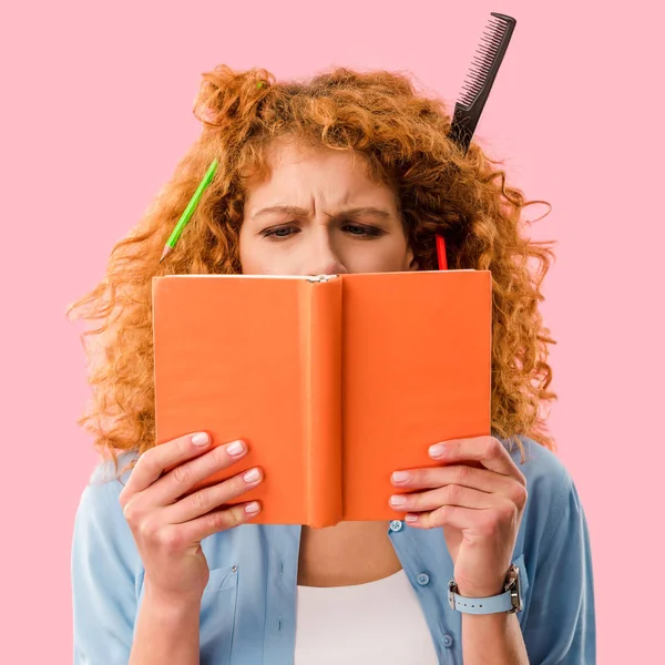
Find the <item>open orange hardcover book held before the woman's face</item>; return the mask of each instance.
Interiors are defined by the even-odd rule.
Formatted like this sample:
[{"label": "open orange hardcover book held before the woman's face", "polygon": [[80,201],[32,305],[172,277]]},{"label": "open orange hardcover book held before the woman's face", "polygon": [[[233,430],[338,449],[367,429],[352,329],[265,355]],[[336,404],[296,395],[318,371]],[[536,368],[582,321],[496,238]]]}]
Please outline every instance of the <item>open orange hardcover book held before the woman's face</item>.
[{"label": "open orange hardcover book held before the woman's face", "polygon": [[490,433],[491,291],[488,270],[155,277],[157,443],[247,441],[195,489],[259,467],[255,523],[398,519],[393,471]]}]

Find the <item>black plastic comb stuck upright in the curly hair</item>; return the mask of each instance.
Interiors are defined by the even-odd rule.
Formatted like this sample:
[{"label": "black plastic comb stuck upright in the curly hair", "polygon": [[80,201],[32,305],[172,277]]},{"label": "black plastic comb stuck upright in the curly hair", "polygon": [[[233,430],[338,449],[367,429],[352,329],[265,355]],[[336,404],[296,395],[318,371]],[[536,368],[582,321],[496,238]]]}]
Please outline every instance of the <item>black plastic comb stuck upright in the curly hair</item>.
[{"label": "black plastic comb stuck upright in the curly hair", "polygon": [[454,105],[450,126],[450,137],[464,155],[516,24],[515,19],[505,14],[492,12],[491,17],[464,79],[460,101]]}]

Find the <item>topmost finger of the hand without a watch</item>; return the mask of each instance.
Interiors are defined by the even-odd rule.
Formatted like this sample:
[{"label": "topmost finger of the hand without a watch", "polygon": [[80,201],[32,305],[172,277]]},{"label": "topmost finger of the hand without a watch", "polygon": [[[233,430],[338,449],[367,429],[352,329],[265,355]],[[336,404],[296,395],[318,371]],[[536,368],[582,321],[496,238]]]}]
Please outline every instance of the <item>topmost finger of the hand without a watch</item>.
[{"label": "topmost finger of the hand without a watch", "polygon": [[120,494],[121,503],[123,499],[149,488],[168,467],[204,453],[209,449],[211,442],[207,432],[195,432],[146,450],[134,464],[132,474]]}]

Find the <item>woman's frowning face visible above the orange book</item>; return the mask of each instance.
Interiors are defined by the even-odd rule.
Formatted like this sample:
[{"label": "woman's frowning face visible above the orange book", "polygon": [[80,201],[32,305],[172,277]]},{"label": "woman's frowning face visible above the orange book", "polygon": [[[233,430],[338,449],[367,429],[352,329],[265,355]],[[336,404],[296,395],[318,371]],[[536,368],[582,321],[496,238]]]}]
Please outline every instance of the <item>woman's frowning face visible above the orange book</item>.
[{"label": "woman's frowning face visible above the orange book", "polygon": [[393,192],[360,155],[282,141],[270,175],[249,181],[241,228],[247,275],[415,270]]}]

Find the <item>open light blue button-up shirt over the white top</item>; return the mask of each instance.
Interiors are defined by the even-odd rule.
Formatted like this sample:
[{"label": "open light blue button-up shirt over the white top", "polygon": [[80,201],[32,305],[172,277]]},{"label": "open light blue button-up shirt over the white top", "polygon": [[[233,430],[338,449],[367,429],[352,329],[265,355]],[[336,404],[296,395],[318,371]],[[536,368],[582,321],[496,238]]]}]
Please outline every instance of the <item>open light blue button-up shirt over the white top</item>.
[{"label": "open light blue button-up shirt over the white top", "polygon": [[[522,575],[524,608],[518,618],[529,662],[592,665],[593,574],[580,498],[554,453],[522,441],[528,459],[520,469],[529,498],[513,561]],[[519,463],[516,447],[511,456]],[[143,596],[144,569],[113,471],[112,462],[98,467],[75,519],[76,665],[127,663]],[[416,590],[439,662],[461,664],[461,614],[448,603],[453,566],[441,530],[411,529],[396,520],[388,534]],[[293,663],[299,540],[300,526],[244,524],[203,541],[211,576],[201,604],[202,665]]]}]

